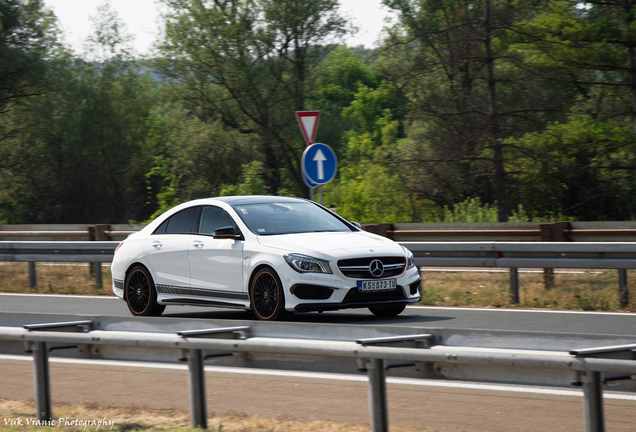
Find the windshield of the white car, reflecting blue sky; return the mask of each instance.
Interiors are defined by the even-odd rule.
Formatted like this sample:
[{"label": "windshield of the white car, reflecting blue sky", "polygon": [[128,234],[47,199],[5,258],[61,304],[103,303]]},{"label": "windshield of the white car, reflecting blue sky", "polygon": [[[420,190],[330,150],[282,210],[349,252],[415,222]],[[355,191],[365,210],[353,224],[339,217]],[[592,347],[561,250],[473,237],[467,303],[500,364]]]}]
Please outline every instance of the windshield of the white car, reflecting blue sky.
[{"label": "windshield of the white car, reflecting blue sky", "polygon": [[240,204],[234,209],[258,235],[351,232],[340,219],[310,202]]}]

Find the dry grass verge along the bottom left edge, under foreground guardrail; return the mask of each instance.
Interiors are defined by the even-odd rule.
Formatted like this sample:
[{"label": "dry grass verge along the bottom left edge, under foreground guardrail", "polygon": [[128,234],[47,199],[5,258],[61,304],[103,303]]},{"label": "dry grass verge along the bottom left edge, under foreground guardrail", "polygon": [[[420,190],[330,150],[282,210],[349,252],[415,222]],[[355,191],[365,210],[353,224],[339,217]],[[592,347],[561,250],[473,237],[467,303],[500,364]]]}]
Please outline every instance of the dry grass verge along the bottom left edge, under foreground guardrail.
[{"label": "dry grass verge along the bottom left edge, under foreground guardrail", "polygon": [[[34,420],[35,406],[30,401],[13,401],[0,399],[0,429],[7,432],[75,432],[75,431],[108,431],[110,425],[101,426],[67,426],[59,425],[59,418],[80,421],[106,420],[114,422],[114,431],[188,431],[192,430],[190,415],[176,410],[147,410],[120,408],[113,406],[53,405],[52,426],[26,426],[26,419]],[[7,426],[5,420],[22,419],[24,426]],[[368,432],[368,425],[334,423],[327,421],[299,422],[285,418],[261,418],[241,414],[215,416],[208,413],[208,429],[218,432]],[[424,432],[423,429],[391,428],[393,432]]]}]

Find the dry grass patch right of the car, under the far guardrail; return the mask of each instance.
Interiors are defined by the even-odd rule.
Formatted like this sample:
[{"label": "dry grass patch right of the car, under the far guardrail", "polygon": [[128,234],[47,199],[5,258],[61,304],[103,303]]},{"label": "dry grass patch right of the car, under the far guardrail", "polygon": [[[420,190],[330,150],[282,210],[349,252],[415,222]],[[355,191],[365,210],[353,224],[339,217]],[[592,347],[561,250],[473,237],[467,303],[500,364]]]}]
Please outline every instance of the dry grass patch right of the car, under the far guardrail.
[{"label": "dry grass patch right of the car, under the far guardrail", "polygon": [[519,304],[510,304],[510,274],[486,272],[422,272],[422,303],[437,306],[521,307],[599,311],[622,308],[618,271],[556,270],[555,286],[546,290],[543,272],[519,272]]}]

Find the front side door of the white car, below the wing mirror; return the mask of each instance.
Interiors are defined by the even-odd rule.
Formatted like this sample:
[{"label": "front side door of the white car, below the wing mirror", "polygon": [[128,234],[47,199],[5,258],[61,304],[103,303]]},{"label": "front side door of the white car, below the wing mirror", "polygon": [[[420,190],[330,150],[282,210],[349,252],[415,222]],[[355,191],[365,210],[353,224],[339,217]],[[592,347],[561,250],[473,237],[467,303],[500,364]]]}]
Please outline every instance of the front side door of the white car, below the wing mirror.
[{"label": "front side door of the white car, below the wing mirror", "polygon": [[238,233],[236,223],[225,210],[203,206],[188,246],[193,296],[229,302],[248,298],[243,290],[243,241],[213,237],[214,230],[227,226]]}]

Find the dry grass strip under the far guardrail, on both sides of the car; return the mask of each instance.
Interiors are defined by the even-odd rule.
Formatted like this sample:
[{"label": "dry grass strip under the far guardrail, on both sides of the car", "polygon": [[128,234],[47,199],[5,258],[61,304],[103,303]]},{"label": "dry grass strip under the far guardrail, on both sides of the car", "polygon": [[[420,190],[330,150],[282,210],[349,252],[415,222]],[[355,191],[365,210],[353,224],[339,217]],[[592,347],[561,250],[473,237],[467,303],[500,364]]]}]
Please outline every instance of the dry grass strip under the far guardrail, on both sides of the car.
[{"label": "dry grass strip under the far guardrail, on both sides of the car", "polygon": [[[103,289],[95,287],[88,265],[37,264],[36,290],[29,288],[26,263],[0,265],[0,292],[112,295],[110,268],[103,266]],[[543,273],[520,270],[520,303],[510,304],[510,276],[503,273],[424,271],[422,304],[437,306],[522,307],[574,310],[624,310],[618,297],[618,272],[579,271],[559,273],[555,287],[546,290]],[[633,296],[632,296],[633,297]]]}]

